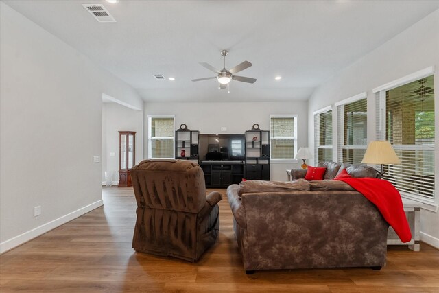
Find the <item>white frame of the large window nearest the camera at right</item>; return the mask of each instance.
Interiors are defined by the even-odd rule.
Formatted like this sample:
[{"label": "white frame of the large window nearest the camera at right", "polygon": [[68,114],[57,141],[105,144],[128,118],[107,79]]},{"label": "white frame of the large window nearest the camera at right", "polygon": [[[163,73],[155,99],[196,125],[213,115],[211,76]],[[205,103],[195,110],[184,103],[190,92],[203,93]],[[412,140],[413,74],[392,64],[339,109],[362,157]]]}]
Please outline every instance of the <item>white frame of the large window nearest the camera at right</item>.
[{"label": "white frame of the large window nearest the camera at right", "polygon": [[[383,84],[381,86],[378,86],[374,89],[372,89],[372,92],[375,94],[375,109],[376,109],[376,127],[375,127],[375,134],[377,140],[385,140],[386,139],[386,115],[387,115],[387,109],[386,109],[386,91],[390,91],[392,89],[395,89],[399,86],[404,86],[405,84],[409,84],[410,82],[414,82],[416,80],[420,80],[422,78],[427,78],[431,75],[434,75],[434,67],[427,67],[425,69],[421,69],[420,71],[416,71],[410,75],[406,75],[403,78],[399,78],[397,80],[394,80],[392,82],[388,82],[387,84]],[[435,97],[437,97],[437,91],[435,91]],[[436,102],[436,101],[435,101]],[[435,110],[437,106],[435,105]],[[435,111],[435,120],[437,121],[438,116]],[[394,150],[432,150],[434,156],[435,154],[435,147],[437,145],[437,134],[438,130],[435,129],[435,137],[434,137],[434,143],[433,144],[425,144],[425,145],[394,145],[392,144],[392,147]],[[437,169],[437,163],[436,158],[434,158],[434,169]],[[378,166],[376,166],[378,167]],[[381,166],[379,166],[381,167]],[[409,198],[411,200],[416,200],[418,202],[424,202],[426,204],[432,204],[437,208],[437,205],[434,204],[434,202],[438,202],[438,176],[435,172],[435,178],[434,178],[434,191],[433,195],[430,196],[422,196],[420,194],[412,194],[410,192],[399,190],[401,196],[403,198]]]}]

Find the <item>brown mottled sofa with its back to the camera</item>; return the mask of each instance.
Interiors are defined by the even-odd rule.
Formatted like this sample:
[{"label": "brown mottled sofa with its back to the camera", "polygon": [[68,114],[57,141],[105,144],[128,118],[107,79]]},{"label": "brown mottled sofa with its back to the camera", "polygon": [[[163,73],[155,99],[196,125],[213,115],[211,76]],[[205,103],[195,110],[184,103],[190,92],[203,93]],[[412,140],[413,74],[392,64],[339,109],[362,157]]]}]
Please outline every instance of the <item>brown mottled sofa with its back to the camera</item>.
[{"label": "brown mottled sofa with its back to the camera", "polygon": [[227,196],[248,274],[385,265],[388,223],[344,182],[251,180],[230,185]]}]

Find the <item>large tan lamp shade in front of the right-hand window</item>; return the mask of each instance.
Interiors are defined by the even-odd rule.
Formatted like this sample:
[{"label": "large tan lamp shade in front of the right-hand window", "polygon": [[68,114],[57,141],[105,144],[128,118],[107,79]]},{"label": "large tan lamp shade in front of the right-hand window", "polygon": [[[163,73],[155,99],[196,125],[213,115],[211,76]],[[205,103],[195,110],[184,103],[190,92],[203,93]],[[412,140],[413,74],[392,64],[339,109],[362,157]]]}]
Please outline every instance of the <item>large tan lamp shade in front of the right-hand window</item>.
[{"label": "large tan lamp shade in front of the right-hand window", "polygon": [[370,141],[363,161],[366,164],[400,164],[392,145],[388,141]]}]

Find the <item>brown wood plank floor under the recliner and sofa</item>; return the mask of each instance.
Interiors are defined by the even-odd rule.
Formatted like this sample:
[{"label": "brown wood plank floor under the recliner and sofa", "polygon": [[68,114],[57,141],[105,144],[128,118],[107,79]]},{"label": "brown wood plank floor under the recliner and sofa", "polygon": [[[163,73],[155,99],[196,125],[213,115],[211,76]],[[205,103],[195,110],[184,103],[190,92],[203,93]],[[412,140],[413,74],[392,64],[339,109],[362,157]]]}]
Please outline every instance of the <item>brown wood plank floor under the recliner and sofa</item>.
[{"label": "brown wood plank floor under the recliner and sofa", "polygon": [[389,246],[387,266],[246,275],[225,189],[220,233],[198,263],[135,253],[131,188],[103,189],[104,207],[0,256],[0,292],[439,292],[439,250]]}]

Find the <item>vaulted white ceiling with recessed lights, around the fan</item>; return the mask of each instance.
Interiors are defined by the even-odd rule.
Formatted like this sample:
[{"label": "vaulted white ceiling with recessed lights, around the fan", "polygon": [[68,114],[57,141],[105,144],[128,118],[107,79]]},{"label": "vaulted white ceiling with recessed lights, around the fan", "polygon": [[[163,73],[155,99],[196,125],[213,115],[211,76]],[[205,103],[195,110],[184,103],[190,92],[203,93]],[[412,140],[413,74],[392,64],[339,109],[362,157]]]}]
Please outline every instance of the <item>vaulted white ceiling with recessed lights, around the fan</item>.
[{"label": "vaulted white ceiling with recessed lights, around the fan", "polygon": [[[337,71],[439,8],[439,1],[4,2],[156,102],[305,100]],[[103,4],[117,22],[98,23],[85,3]],[[191,82],[215,75],[198,62],[222,69],[222,49],[229,51],[228,69],[252,62],[237,75],[257,82],[233,80],[230,93],[216,80]]]}]

